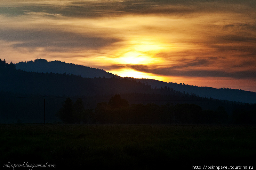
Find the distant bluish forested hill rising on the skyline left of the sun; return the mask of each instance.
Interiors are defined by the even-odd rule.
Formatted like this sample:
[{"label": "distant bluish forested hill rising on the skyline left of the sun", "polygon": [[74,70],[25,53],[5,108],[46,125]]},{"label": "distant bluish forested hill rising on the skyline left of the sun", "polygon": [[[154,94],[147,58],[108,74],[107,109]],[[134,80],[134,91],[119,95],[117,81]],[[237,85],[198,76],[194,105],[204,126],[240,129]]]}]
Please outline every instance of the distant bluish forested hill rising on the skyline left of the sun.
[{"label": "distant bluish forested hill rising on the skyline left of the sun", "polygon": [[16,69],[25,70],[25,71],[34,71],[34,72],[44,72],[44,73],[67,73],[80,75],[85,78],[94,78],[94,77],[105,77],[112,78],[116,75],[106,72],[101,69],[86,67],[82,65],[76,65],[71,63],[65,63],[61,61],[51,61],[48,62],[45,59],[36,59],[35,61],[20,62],[15,64]]}]

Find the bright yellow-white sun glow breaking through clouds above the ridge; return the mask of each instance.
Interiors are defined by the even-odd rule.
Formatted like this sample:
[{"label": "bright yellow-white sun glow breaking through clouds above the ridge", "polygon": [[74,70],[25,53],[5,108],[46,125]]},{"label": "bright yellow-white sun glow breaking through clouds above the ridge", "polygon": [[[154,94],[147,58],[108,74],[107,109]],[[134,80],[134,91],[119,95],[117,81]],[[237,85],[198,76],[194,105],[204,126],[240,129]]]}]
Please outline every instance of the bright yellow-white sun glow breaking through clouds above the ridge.
[{"label": "bright yellow-white sun glow breaking through clouds above the ridge", "polygon": [[[96,57],[86,57],[83,61],[87,63],[93,62],[95,65],[101,64],[109,68],[107,69],[108,71],[121,77],[153,78],[165,81],[166,79],[161,75],[143,72],[142,70],[144,66],[153,65],[159,67],[169,63],[165,58],[157,54],[172,49],[173,46],[171,44],[161,40],[159,37],[133,37],[122,48],[117,48],[111,56],[108,52],[101,53]],[[113,68],[111,69],[112,66]],[[140,67],[141,70],[135,70],[137,67]]]}]

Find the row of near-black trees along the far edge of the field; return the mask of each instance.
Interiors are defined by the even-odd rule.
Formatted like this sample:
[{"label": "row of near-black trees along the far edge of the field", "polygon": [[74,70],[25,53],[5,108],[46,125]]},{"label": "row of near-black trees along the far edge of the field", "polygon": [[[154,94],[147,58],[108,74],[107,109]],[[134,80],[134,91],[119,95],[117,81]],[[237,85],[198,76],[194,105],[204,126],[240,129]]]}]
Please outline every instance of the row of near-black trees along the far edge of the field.
[{"label": "row of near-black trees along the far edge of the field", "polygon": [[100,102],[95,109],[84,109],[81,99],[65,100],[56,114],[64,123],[100,124],[227,124],[256,123],[256,109],[235,109],[231,115],[220,106],[216,110],[203,110],[195,104],[156,105],[132,104],[120,95],[111,97],[109,102]]}]

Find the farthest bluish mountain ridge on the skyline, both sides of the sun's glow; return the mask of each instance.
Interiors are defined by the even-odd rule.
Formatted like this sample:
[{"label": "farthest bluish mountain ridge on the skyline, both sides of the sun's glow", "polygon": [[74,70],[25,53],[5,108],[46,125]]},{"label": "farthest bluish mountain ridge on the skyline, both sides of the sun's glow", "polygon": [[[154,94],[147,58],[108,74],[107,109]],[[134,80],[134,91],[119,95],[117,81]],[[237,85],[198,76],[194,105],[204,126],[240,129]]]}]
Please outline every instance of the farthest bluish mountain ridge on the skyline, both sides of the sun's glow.
[{"label": "farthest bluish mountain ridge on the skyline, both sides of the sun's glow", "polygon": [[[105,77],[112,78],[113,76],[119,77],[112,73],[106,72],[101,69],[90,68],[82,65],[76,65],[71,63],[65,63],[61,61],[51,61],[48,62],[45,59],[36,59],[28,62],[20,62],[15,64],[16,69],[25,70],[25,71],[34,71],[34,72],[52,72],[52,73],[67,73],[73,75],[81,75],[83,78],[95,78],[95,77]],[[120,78],[120,77],[119,77]],[[138,79],[130,78],[137,82],[151,85],[152,88],[164,88],[166,86],[172,88],[173,90],[185,92],[188,94],[219,99],[219,100],[230,100],[230,101],[239,101],[244,103],[256,103],[256,93],[249,92],[238,89],[216,89],[212,87],[198,87],[193,85],[177,84],[172,82],[162,82],[159,80],[153,79]]]}]

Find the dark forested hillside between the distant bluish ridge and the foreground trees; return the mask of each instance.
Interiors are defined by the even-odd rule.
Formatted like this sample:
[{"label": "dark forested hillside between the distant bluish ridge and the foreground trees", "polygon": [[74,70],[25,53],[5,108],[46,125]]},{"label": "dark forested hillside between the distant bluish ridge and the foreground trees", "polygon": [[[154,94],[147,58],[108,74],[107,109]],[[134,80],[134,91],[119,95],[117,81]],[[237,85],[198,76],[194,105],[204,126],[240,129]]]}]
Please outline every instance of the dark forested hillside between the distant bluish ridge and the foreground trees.
[{"label": "dark forested hillside between the distant bluish ridge and the foreground trees", "polygon": [[[85,108],[93,109],[98,106],[98,103],[104,102],[106,99],[109,100],[115,94],[120,94],[123,99],[128,100],[131,108],[134,106],[132,104],[154,103],[162,106],[169,103],[170,107],[172,104],[195,104],[203,110],[215,111],[220,107],[229,115],[234,110],[238,110],[240,113],[240,110],[243,109],[241,116],[246,113],[246,120],[250,120],[255,113],[255,104],[212,100],[195,94],[179,92],[166,86],[152,88],[149,84],[129,78],[114,76],[112,78],[83,78],[66,73],[28,72],[17,70],[12,62],[8,64],[1,59],[0,82],[0,123],[1,121],[2,123],[16,122],[21,118],[24,119],[24,122],[25,120],[26,122],[42,120],[44,96],[46,97],[48,120],[51,121],[56,119],[54,115],[67,97],[82,98]],[[181,109],[183,106],[185,105],[182,105]],[[250,114],[252,114],[251,117]],[[15,117],[14,120],[12,117]],[[33,117],[34,120],[30,120],[30,117]]]}]

